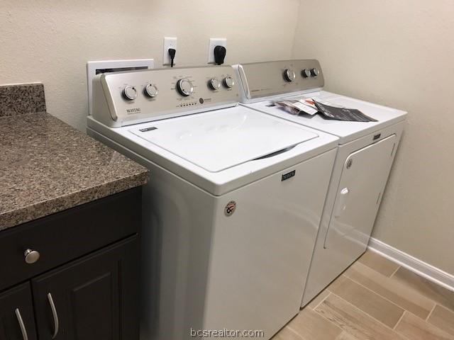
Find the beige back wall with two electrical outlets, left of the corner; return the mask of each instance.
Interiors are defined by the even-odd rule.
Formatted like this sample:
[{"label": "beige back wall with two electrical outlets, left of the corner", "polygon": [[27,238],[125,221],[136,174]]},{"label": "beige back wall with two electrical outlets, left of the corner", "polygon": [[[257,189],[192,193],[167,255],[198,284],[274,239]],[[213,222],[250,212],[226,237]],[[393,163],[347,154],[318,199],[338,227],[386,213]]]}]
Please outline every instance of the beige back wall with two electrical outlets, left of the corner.
[{"label": "beige back wall with two electrical outlets, left of the corner", "polygon": [[165,36],[178,38],[180,66],[206,64],[208,40],[219,37],[231,64],[289,58],[298,7],[299,0],[1,0],[0,84],[43,81],[48,111],[85,130],[88,60],[151,57],[161,67]]}]

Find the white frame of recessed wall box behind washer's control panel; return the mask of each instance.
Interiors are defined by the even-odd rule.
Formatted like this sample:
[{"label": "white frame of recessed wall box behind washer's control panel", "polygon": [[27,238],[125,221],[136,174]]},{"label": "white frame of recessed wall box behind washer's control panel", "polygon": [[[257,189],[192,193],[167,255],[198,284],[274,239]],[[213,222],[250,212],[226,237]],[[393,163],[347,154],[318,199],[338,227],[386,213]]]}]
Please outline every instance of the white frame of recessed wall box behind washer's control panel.
[{"label": "white frame of recessed wall box behind washer's control panel", "polygon": [[87,89],[88,89],[88,114],[93,111],[93,78],[96,74],[116,71],[131,71],[133,69],[153,69],[153,59],[128,59],[128,60],[99,60],[87,62]]}]

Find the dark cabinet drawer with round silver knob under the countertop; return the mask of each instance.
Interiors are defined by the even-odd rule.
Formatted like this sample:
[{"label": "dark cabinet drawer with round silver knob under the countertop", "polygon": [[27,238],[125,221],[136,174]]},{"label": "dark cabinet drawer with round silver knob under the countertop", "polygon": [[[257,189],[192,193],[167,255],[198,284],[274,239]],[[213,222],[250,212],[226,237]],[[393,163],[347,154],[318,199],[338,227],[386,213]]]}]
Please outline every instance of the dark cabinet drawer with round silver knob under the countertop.
[{"label": "dark cabinet drawer with round silver knob under the countertop", "polygon": [[[0,290],[138,232],[141,188],[0,232]],[[38,251],[27,263],[26,249]]]}]

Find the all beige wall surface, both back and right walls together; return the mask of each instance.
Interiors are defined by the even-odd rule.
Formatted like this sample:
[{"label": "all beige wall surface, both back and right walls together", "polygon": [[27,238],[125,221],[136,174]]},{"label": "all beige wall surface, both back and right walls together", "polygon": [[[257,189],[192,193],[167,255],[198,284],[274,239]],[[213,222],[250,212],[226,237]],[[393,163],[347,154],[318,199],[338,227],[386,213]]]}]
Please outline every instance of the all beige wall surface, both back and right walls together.
[{"label": "all beige wall surface, both back and right walls together", "polygon": [[164,36],[179,65],[204,64],[210,37],[228,63],[318,58],[328,90],[409,111],[374,237],[454,274],[452,0],[2,0],[0,32],[0,84],[43,81],[80,130],[87,60],[160,67]]}]

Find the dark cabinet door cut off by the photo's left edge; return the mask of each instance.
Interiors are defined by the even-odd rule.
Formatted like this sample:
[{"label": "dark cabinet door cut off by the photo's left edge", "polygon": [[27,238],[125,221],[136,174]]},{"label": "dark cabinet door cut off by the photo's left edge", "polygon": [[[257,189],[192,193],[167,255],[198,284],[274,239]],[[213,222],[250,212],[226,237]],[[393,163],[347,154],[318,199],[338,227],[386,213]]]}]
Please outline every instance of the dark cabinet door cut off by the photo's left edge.
[{"label": "dark cabinet door cut off by the photo's left edge", "polygon": [[36,339],[29,283],[0,293],[0,339]]}]

